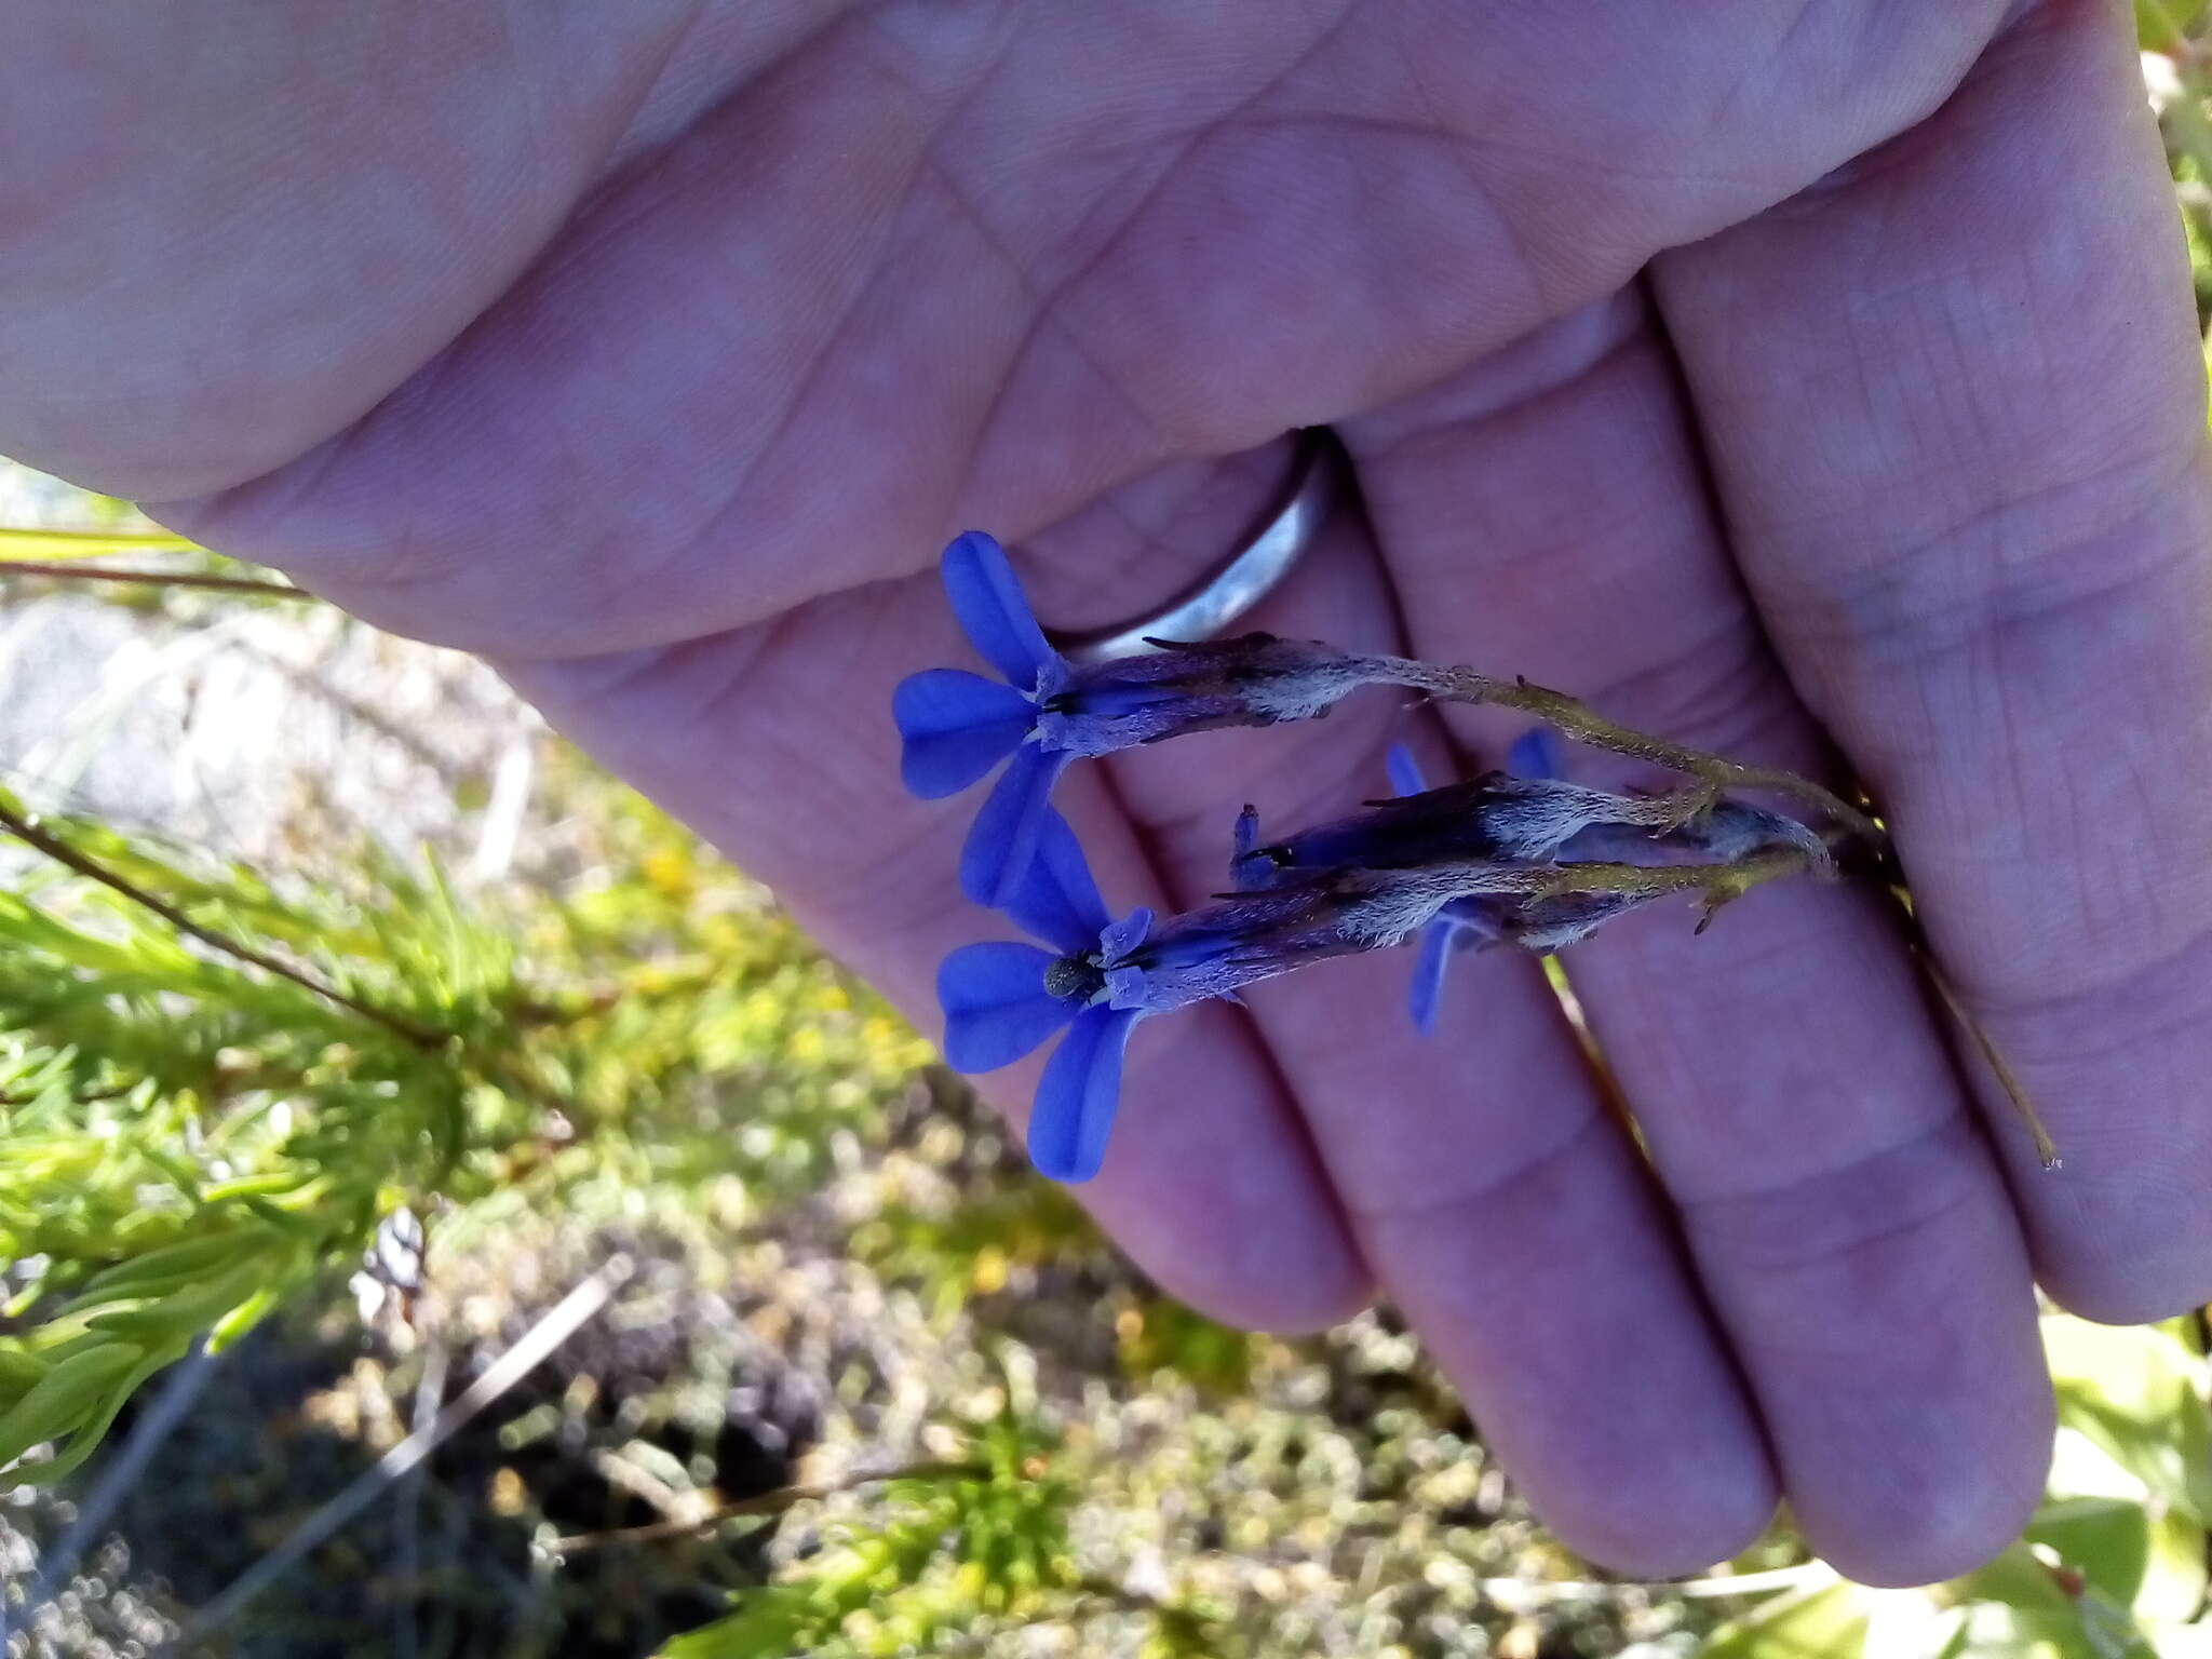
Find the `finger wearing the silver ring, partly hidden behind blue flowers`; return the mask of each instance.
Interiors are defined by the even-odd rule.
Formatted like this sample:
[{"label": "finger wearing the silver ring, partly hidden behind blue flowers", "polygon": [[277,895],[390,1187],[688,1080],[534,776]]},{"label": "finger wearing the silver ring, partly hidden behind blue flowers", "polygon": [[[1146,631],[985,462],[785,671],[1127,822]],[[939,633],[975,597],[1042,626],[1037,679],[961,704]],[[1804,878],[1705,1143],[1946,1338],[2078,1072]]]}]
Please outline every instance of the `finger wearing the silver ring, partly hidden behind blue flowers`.
[{"label": "finger wearing the silver ring, partly hidden behind blue flowers", "polygon": [[[1203,538],[1188,509],[1172,524]],[[1091,515],[1033,551],[1046,571],[1082,571],[1110,564],[1124,535],[1119,515]],[[1040,604],[1062,615],[1051,580]],[[1371,544],[1349,518],[1252,624],[1398,646]],[[1327,721],[1124,754],[1110,776],[1170,898],[1197,905],[1225,885],[1241,803],[1259,805],[1263,834],[1354,810],[1387,790],[1394,737],[1422,743],[1429,770],[1449,774],[1433,721],[1369,695]],[[1486,1444],[1575,1548],[1637,1573],[1732,1555],[1774,1509],[1765,1447],[1573,1031],[1537,967],[1495,953],[1453,962],[1447,1013],[1420,1037],[1407,1006],[1413,958],[1363,956],[1245,993],[1367,1263]],[[1593,1365],[1590,1332],[1635,1363]]]}]

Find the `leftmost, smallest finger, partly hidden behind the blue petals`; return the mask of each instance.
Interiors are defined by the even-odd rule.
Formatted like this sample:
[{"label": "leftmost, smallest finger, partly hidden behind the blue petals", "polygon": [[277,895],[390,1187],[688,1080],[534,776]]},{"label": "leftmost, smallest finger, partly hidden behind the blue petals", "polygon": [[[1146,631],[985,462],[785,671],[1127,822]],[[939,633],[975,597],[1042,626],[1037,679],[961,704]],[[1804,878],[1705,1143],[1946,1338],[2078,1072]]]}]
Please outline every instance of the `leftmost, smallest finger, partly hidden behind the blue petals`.
[{"label": "leftmost, smallest finger, partly hidden behind the blue petals", "polygon": [[[891,686],[951,661],[967,661],[967,646],[929,577],[810,606],[776,630],[507,672],[564,732],[622,754],[637,787],[938,1033],[945,953],[1018,936],[953,880],[978,794],[920,803],[898,790]],[[1097,772],[1073,772],[1057,801],[1117,907],[1159,905]],[[978,1086],[1022,1124],[1042,1066],[1033,1055]],[[1139,1033],[1106,1168],[1079,1197],[1152,1279],[1217,1318],[1312,1329],[1367,1298],[1305,1128],[1223,1009]]]}]

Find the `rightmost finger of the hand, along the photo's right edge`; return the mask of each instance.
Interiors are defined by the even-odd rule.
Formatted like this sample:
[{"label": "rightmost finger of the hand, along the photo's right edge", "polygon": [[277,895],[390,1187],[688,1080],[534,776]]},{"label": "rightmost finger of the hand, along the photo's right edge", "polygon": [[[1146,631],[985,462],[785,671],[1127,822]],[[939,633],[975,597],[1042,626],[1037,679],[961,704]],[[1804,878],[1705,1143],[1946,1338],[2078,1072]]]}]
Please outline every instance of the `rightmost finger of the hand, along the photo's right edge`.
[{"label": "rightmost finger of the hand, along the photo's right edge", "polygon": [[1743,568],[2064,1155],[2037,1270],[2212,1294],[2203,376],[2135,53],[2042,4],[1933,122],[1659,276]]}]

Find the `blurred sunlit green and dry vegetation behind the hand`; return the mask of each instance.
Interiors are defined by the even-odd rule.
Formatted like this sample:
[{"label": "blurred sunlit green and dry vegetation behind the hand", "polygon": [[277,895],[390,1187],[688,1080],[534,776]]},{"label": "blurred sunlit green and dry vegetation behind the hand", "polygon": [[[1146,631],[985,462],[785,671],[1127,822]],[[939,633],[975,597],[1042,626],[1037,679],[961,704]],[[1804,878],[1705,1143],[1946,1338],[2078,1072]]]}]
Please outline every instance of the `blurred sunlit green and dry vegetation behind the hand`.
[{"label": "blurred sunlit green and dry vegetation behind the hand", "polygon": [[[2139,0],[2212,316],[2201,13]],[[484,668],[24,469],[0,520],[9,1659],[2212,1655],[2201,1316],[2046,1318],[1971,1579],[1615,1582],[1387,1310],[1161,1296]]]}]

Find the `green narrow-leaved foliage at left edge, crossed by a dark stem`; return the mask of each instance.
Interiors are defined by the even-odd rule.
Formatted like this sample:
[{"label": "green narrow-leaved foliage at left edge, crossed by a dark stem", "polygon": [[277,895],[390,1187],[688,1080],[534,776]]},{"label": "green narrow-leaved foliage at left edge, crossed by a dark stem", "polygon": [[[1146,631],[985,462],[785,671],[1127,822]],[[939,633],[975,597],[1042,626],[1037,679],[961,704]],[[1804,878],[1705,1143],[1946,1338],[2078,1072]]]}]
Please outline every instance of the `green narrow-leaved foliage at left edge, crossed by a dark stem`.
[{"label": "green narrow-leaved foliage at left edge, crossed by a dark stem", "polygon": [[[0,1482],[51,1482],[195,1340],[223,1347],[524,1091],[513,953],[442,885],[279,896],[0,794]],[[509,1113],[513,1117],[513,1113]]]}]

